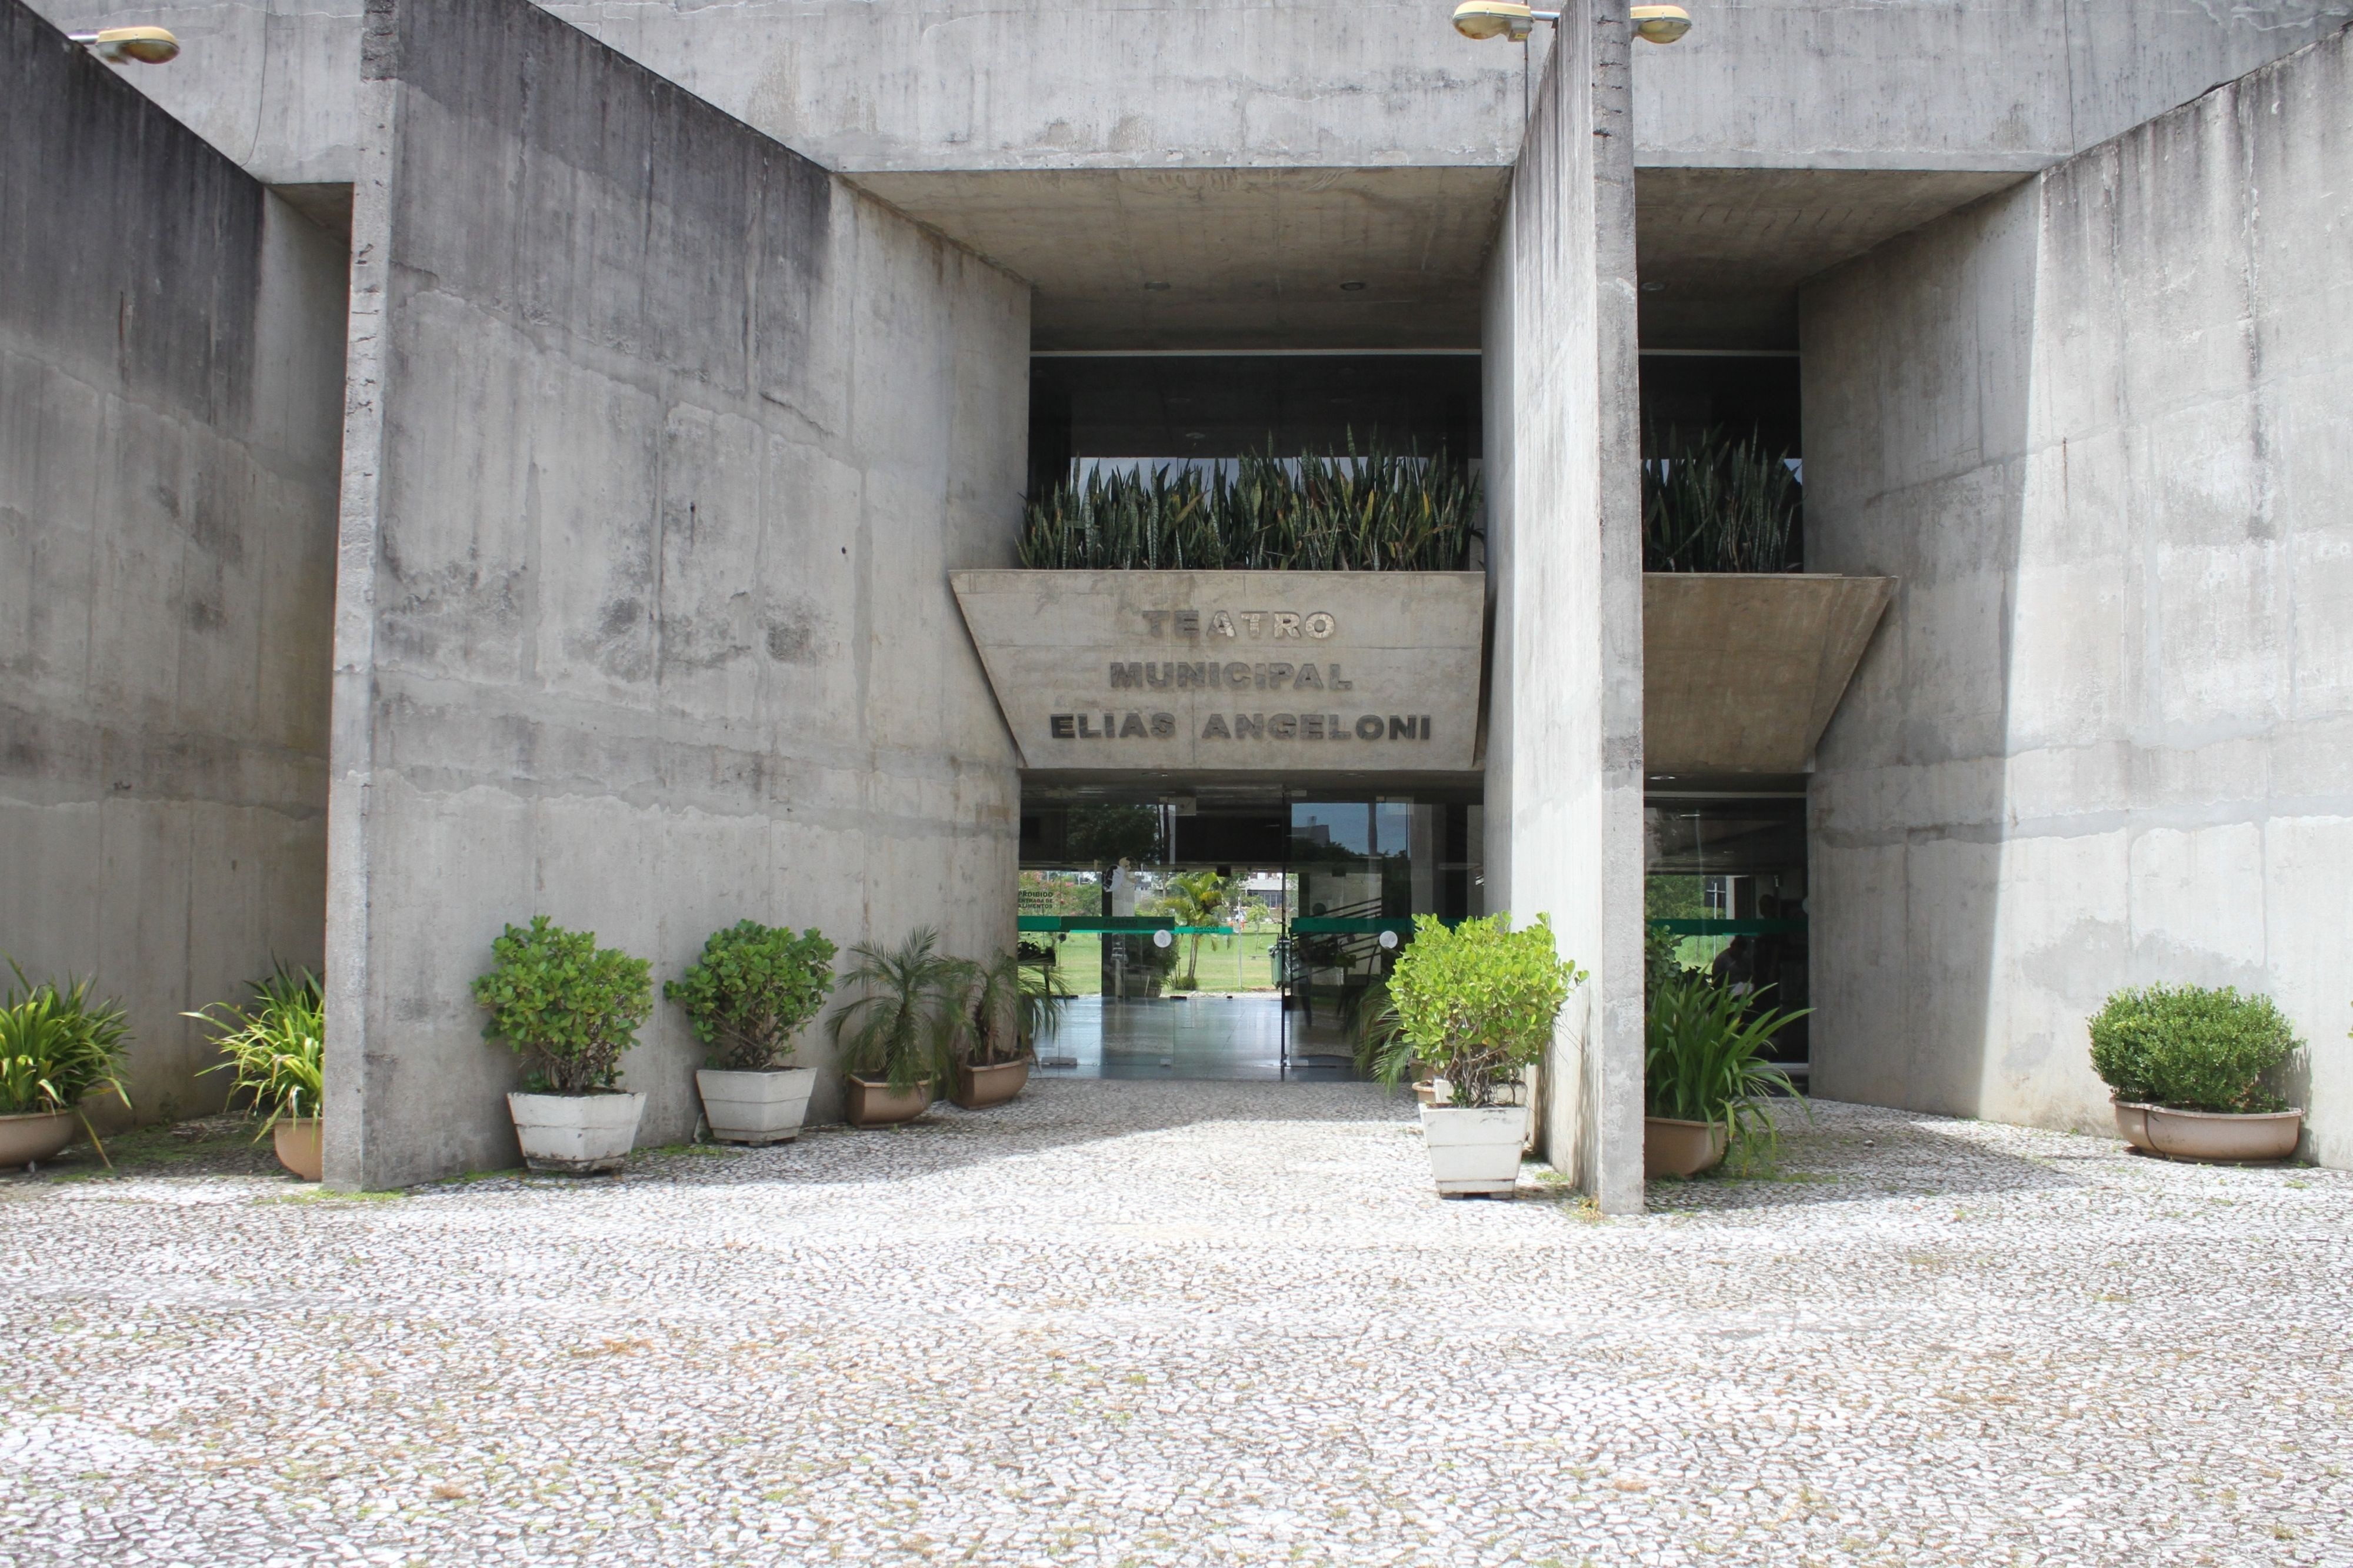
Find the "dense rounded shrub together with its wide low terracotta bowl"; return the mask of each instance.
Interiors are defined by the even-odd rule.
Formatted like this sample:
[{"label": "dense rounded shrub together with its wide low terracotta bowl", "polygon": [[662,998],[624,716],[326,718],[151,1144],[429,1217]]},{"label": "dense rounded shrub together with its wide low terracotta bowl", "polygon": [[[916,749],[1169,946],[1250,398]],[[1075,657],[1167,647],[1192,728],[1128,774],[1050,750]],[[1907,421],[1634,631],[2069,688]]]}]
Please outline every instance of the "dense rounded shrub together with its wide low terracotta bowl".
[{"label": "dense rounded shrub together with its wide low terracotta bowl", "polygon": [[2134,1149],[2186,1161],[2282,1161],[2304,1111],[2264,1083],[2301,1041],[2268,996],[2235,986],[2118,991],[2092,1017],[2092,1069]]}]

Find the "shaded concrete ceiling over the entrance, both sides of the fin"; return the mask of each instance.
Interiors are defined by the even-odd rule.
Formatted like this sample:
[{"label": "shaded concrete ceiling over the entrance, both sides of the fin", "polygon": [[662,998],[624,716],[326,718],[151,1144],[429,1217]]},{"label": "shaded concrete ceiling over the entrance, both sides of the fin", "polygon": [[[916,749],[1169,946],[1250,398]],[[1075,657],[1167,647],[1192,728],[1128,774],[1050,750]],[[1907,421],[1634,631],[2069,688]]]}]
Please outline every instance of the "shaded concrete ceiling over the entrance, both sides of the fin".
[{"label": "shaded concrete ceiling over the entrance, both sides of the fin", "polygon": [[[1038,348],[1475,348],[1499,167],[866,172],[1038,287]],[[1640,170],[1645,348],[1795,348],[1798,285],[2026,179]],[[1362,287],[1344,287],[1362,285]]]}]

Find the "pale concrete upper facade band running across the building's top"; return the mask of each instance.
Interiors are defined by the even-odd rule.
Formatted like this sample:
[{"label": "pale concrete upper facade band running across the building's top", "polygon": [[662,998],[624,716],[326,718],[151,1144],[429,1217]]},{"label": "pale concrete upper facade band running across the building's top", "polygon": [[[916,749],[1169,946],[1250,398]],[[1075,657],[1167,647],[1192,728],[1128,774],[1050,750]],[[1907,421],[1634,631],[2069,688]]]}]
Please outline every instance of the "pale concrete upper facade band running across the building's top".
[{"label": "pale concrete upper facade band running across the building's top", "polygon": [[[351,179],[358,0],[42,0],[162,21],[139,71],[261,179]],[[588,0],[551,7],[819,162],[880,170],[1506,165],[1548,35],[1424,0]],[[1635,54],[1647,165],[2040,170],[2341,26],[2353,0],[1711,0]]]}]

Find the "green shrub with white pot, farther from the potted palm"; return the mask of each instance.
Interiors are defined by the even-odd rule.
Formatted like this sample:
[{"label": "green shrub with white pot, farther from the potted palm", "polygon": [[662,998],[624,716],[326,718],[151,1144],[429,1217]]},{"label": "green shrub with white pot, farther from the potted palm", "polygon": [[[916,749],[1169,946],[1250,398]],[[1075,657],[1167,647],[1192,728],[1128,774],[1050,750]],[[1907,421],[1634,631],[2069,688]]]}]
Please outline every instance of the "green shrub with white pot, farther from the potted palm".
[{"label": "green shrub with white pot, farther from the potted palm", "polygon": [[473,982],[475,1003],[489,1010],[482,1038],[504,1038],[532,1062],[525,1088],[506,1097],[522,1161],[532,1170],[619,1170],[645,1114],[645,1095],[616,1081],[621,1052],[654,1010],[652,965],[548,916],[508,925],[489,951],[489,972]]}]

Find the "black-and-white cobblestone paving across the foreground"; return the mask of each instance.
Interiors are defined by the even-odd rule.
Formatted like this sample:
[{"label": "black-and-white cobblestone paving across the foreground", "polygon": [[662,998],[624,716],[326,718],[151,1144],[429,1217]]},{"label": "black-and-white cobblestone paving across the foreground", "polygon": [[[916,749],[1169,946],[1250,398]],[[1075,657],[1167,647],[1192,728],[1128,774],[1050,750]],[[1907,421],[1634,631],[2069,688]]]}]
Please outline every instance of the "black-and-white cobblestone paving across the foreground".
[{"label": "black-and-white cobblestone paving across the foreground", "polygon": [[1428,1194],[1358,1085],[320,1201],[0,1184],[0,1561],[2353,1563],[2353,1180],[1824,1104]]}]

